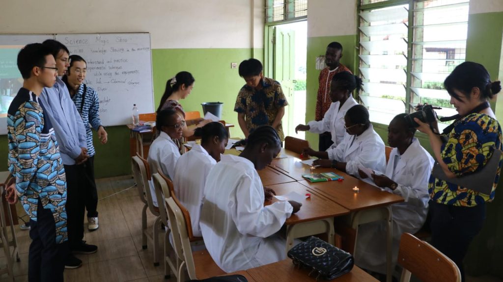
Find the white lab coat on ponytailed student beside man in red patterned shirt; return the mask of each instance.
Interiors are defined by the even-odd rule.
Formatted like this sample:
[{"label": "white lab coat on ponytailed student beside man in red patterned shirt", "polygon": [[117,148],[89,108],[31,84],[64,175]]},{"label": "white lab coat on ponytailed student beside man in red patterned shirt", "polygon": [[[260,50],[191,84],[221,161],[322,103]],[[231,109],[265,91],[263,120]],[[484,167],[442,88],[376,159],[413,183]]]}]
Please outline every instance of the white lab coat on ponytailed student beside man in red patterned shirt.
[{"label": "white lab coat on ponytailed student beside man in red patterned shirt", "polygon": [[311,120],[307,123],[309,132],[323,133],[329,131],[332,134],[333,144],[329,149],[336,148],[342,142],[346,133],[344,116],[351,107],[358,105],[358,102],[350,95],[341,108],[339,108],[340,104],[339,101],[331,103],[322,120]]}]

